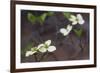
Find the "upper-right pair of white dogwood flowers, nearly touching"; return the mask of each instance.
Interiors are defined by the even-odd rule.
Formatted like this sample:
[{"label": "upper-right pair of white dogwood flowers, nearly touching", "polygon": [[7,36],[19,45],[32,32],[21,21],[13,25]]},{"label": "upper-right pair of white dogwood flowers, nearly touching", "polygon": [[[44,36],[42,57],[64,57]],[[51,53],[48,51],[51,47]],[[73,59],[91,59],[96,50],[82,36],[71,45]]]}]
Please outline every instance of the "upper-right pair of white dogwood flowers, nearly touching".
[{"label": "upper-right pair of white dogwood flowers, nearly touching", "polygon": [[77,14],[76,16],[75,15],[70,15],[69,21],[72,22],[72,25],[68,24],[67,28],[61,28],[60,29],[60,33],[63,36],[67,36],[70,33],[70,31],[72,30],[74,25],[76,25],[76,24],[82,25],[85,22],[81,14]]}]

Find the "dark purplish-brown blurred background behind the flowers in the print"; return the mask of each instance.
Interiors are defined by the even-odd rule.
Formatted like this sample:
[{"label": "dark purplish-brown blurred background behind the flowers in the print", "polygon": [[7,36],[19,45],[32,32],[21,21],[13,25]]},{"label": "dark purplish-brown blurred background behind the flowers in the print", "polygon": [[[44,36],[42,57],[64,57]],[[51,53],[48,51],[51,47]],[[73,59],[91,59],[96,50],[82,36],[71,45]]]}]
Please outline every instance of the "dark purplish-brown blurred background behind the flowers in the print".
[{"label": "dark purplish-brown blurred background behind the flowers in the print", "polygon": [[[21,10],[21,62],[35,62],[34,56],[25,57],[25,52],[30,50],[32,46],[37,46],[44,41],[51,39],[52,44],[56,46],[57,50],[52,55],[47,55],[42,61],[67,61],[67,60],[86,60],[89,59],[89,14],[82,14],[85,23],[82,25],[84,29],[81,37],[83,49],[79,47],[80,41],[76,37],[73,30],[64,37],[57,31],[70,24],[70,22],[63,16],[62,12],[54,12],[53,16],[48,16],[41,26],[36,22],[32,24],[27,19],[27,13],[39,16],[46,11],[30,11]],[[76,15],[78,13],[73,12]],[[80,28],[77,24],[75,28]],[[71,42],[72,41],[72,42]],[[42,55],[42,54],[40,54]],[[38,56],[40,57],[40,56]],[[56,58],[56,59],[55,59]]]}]

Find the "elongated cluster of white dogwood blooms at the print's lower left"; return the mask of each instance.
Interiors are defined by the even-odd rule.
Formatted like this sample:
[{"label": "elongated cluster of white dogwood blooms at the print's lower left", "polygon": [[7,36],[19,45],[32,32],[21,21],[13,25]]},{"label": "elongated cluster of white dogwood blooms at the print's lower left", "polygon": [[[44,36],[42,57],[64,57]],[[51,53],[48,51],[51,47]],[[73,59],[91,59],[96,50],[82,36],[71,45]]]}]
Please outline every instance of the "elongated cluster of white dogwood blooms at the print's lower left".
[{"label": "elongated cluster of white dogwood blooms at the print's lower left", "polygon": [[45,53],[45,52],[53,52],[55,50],[56,50],[56,47],[51,45],[51,40],[47,40],[43,44],[39,44],[37,47],[31,48],[30,51],[26,52],[25,56],[28,57],[37,52]]}]

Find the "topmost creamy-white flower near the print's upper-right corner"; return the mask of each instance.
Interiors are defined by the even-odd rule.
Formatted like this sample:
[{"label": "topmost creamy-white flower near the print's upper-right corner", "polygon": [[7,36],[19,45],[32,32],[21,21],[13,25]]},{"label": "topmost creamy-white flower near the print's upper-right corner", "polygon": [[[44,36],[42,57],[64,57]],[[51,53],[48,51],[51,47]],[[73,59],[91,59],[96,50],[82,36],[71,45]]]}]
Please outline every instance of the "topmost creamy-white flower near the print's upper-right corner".
[{"label": "topmost creamy-white flower near the print's upper-right corner", "polygon": [[71,15],[69,20],[72,22],[72,25],[76,25],[76,24],[82,25],[85,22],[81,14],[77,14],[76,16]]}]

